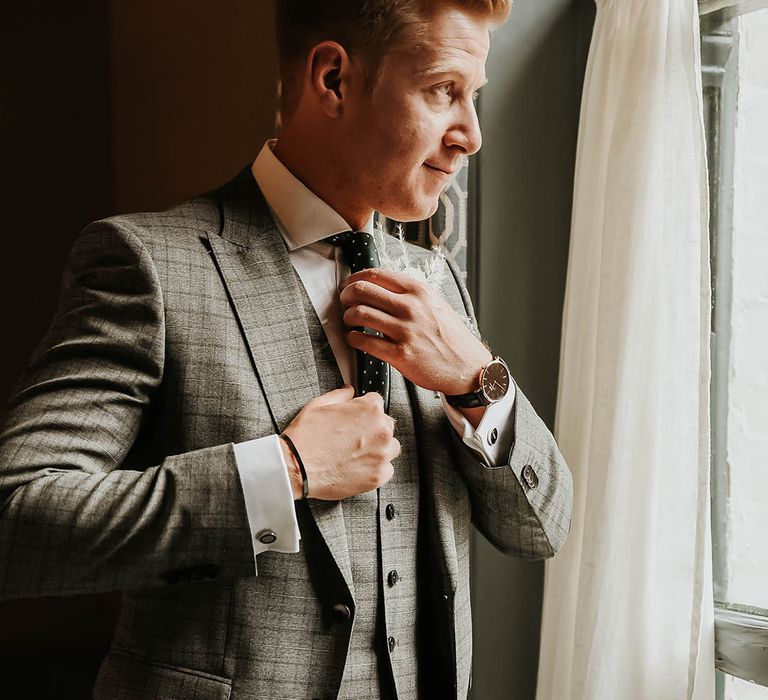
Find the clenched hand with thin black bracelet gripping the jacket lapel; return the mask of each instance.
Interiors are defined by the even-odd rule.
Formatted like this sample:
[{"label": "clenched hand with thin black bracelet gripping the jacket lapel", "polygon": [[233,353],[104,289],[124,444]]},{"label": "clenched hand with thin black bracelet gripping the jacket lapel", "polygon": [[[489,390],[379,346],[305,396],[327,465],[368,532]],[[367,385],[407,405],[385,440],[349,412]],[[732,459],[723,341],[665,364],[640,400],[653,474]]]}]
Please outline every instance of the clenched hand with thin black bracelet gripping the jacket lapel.
[{"label": "clenched hand with thin black bracelet gripping the jacket lapel", "polygon": [[[304,462],[309,497],[337,501],[386,484],[400,454],[395,421],[375,392],[355,397],[351,386],[312,399],[285,429]],[[281,441],[294,499],[301,498],[299,465]]]}]

